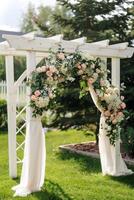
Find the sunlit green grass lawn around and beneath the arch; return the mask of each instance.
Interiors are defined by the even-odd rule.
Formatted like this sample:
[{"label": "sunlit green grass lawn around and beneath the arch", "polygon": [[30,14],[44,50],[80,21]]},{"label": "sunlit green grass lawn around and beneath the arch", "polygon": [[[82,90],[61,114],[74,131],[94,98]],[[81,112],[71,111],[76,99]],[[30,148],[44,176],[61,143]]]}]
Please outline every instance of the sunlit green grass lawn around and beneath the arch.
[{"label": "sunlit green grass lawn around and beneath the arch", "polygon": [[[21,138],[20,138],[21,139]],[[46,180],[41,192],[15,197],[11,187],[19,183],[8,176],[7,134],[0,134],[0,200],[134,200],[134,175],[102,176],[99,160],[60,153],[58,146],[93,140],[82,131],[53,131],[46,135]],[[19,167],[20,176],[20,167]]]}]

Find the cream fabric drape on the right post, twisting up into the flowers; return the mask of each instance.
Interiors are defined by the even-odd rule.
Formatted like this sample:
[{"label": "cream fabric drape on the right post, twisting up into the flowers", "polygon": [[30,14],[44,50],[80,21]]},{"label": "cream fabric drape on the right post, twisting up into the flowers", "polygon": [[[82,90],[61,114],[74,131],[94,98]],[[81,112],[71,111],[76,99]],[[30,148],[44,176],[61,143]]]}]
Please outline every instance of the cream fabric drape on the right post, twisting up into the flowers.
[{"label": "cream fabric drape on the right post, twisting up into the flowers", "polygon": [[110,144],[109,138],[107,136],[103,109],[97,103],[97,95],[92,85],[89,85],[89,90],[94,104],[101,112],[99,128],[99,152],[103,175],[121,176],[132,174],[133,172],[127,168],[124,160],[121,157],[120,152],[118,152],[118,160],[116,160],[116,147]]}]

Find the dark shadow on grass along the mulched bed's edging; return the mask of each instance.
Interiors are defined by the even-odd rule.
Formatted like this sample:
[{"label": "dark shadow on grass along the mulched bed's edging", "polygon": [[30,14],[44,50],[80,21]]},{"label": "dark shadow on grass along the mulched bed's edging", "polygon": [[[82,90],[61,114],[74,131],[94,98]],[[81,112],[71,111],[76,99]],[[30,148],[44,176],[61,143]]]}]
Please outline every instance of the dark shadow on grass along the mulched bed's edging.
[{"label": "dark shadow on grass along the mulched bed's edging", "polygon": [[61,160],[75,160],[79,166],[80,170],[87,171],[89,173],[100,173],[101,166],[99,159],[90,158],[84,155],[78,155],[72,152],[58,152],[57,153],[58,159]]}]

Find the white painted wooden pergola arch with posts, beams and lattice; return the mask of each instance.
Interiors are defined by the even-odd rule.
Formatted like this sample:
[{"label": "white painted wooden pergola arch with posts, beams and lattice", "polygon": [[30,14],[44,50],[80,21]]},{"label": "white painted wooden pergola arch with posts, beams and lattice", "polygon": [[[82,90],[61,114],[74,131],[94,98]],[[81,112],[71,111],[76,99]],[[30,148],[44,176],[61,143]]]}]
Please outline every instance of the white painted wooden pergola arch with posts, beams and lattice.
[{"label": "white painted wooden pergola arch with posts, beams and lattice", "polygon": [[[8,144],[9,144],[9,175],[12,178],[17,176],[17,153],[16,153],[16,133],[21,131],[16,128],[16,117],[21,115],[26,109],[26,118],[30,116],[30,108],[25,107],[16,114],[16,90],[22,81],[30,75],[37,63],[47,56],[49,48],[57,50],[59,44],[62,45],[66,53],[71,53],[78,48],[82,53],[94,57],[101,57],[105,62],[107,58],[112,59],[112,83],[120,88],[120,59],[131,58],[134,48],[128,47],[128,43],[109,45],[109,40],[86,43],[86,38],[78,38],[65,41],[62,35],[50,38],[35,37],[33,33],[22,36],[3,35],[5,42],[0,43],[0,55],[6,59],[6,78],[7,78],[7,101],[8,101]],[[27,68],[19,79],[14,81],[13,56],[26,56]],[[29,90],[27,93],[29,94]],[[27,99],[29,103],[29,99]],[[24,126],[26,123],[24,124]],[[21,128],[20,128],[21,129]],[[21,148],[22,144],[17,148]],[[120,153],[119,140],[116,142],[115,157],[118,160]],[[21,160],[19,161],[21,162]],[[115,163],[115,168],[116,168]]]}]

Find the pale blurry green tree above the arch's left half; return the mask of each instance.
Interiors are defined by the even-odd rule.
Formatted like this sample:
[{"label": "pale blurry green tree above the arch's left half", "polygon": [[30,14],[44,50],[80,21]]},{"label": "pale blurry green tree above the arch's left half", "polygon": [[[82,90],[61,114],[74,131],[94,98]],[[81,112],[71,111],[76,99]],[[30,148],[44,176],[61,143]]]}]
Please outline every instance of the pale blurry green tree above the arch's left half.
[{"label": "pale blurry green tree above the arch's left half", "polygon": [[53,16],[56,14],[65,17],[66,8],[61,8],[60,6],[52,8],[40,5],[35,9],[34,5],[30,3],[22,19],[21,31],[25,33],[37,31],[45,37],[67,32],[68,27],[62,28],[59,23],[55,23]]}]

